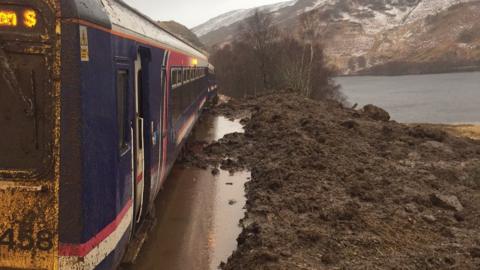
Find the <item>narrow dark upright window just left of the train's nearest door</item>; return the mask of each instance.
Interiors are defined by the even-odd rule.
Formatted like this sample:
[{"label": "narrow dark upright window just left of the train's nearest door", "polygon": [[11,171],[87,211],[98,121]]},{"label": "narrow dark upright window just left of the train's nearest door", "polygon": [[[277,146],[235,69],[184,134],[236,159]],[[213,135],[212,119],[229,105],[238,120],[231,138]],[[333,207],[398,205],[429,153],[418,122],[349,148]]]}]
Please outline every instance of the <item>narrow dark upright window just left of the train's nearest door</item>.
[{"label": "narrow dark upright window just left of the train's nearest door", "polygon": [[117,71],[117,124],[118,146],[122,150],[127,144],[128,134],[128,71]]}]

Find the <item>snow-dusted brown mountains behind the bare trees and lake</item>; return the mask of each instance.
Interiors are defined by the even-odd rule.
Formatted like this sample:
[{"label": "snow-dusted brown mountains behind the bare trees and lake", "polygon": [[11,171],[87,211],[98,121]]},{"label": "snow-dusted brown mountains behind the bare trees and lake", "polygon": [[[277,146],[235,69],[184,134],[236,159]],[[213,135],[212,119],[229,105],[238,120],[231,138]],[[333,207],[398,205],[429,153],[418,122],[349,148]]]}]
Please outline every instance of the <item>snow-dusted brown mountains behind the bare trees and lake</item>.
[{"label": "snow-dusted brown mountains behind the bare trees and lake", "polygon": [[[259,9],[287,33],[299,32],[300,16],[315,18],[318,39],[343,74],[480,69],[479,0],[292,0]],[[207,46],[228,43],[254,11],[192,30]]]}]

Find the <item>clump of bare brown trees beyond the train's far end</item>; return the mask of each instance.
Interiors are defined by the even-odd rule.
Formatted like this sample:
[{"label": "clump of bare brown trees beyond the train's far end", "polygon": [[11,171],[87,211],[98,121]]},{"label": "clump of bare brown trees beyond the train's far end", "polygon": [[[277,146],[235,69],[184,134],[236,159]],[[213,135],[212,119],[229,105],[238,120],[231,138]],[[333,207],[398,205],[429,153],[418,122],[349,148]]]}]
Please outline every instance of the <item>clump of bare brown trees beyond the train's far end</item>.
[{"label": "clump of bare brown trees beyond the train's far end", "polygon": [[222,91],[235,97],[257,96],[272,89],[294,89],[315,99],[341,99],[319,44],[319,16],[300,21],[300,35],[280,32],[272,17],[256,11],[236,40],[211,56]]}]

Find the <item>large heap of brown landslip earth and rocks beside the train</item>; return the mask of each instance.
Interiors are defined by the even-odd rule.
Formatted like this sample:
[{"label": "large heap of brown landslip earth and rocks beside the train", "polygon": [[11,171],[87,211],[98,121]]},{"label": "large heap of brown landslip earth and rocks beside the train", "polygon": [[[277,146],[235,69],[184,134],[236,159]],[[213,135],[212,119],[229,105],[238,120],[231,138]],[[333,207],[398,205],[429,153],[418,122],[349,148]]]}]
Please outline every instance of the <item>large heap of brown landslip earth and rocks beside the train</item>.
[{"label": "large heap of brown landslip earth and rocks beside the train", "polygon": [[245,134],[184,160],[252,171],[222,269],[480,269],[480,141],[295,93],[211,113],[245,111]]}]

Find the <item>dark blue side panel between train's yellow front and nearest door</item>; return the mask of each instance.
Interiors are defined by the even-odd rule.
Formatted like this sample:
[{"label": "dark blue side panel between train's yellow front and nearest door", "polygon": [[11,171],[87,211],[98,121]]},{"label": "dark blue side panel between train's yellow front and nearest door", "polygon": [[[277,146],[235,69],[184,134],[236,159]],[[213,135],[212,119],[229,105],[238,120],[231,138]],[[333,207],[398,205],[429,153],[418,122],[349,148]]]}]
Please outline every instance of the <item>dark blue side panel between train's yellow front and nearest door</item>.
[{"label": "dark blue side panel between train's yellow front and nearest door", "polygon": [[[62,186],[65,190],[62,191],[61,209],[68,214],[62,215],[64,219],[60,226],[60,269],[93,269],[108,254],[120,257],[111,252],[130,227],[131,182],[117,172],[118,147],[114,138],[118,132],[111,37],[92,27],[75,23],[69,27],[73,29],[72,34],[78,34],[80,39],[76,46],[72,46],[79,48],[81,39],[88,39],[88,59],[82,56],[82,52],[77,55],[80,87],[77,94],[65,93],[66,96],[80,97],[77,104],[71,104],[80,110],[80,117],[72,119],[78,120],[77,125],[80,125],[79,134],[72,139],[79,139],[74,145],[80,146],[80,158],[71,162],[72,167],[64,168],[79,168],[76,174],[81,179],[78,183],[67,178],[65,182],[69,181],[72,187],[68,189],[67,183]],[[76,36],[71,38],[76,39]],[[75,50],[75,47],[72,49]],[[72,111],[74,108],[71,108]],[[65,124],[67,122],[66,119]],[[74,125],[74,121],[70,123]],[[63,131],[67,132],[66,129]],[[70,158],[69,154],[64,152],[66,159]],[[72,206],[78,208],[68,209]],[[78,223],[72,223],[72,220]]]}]

